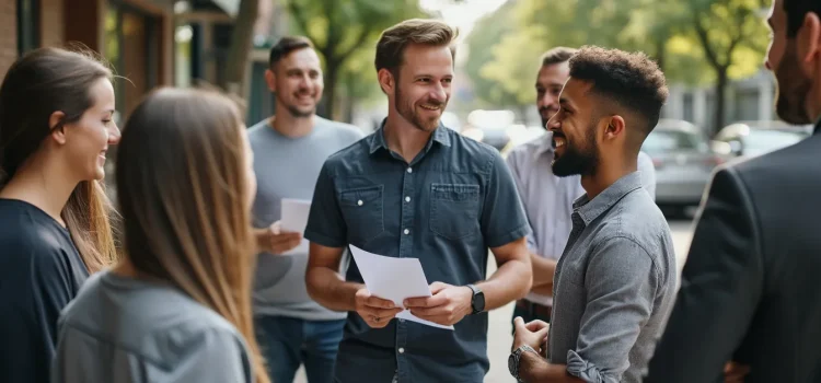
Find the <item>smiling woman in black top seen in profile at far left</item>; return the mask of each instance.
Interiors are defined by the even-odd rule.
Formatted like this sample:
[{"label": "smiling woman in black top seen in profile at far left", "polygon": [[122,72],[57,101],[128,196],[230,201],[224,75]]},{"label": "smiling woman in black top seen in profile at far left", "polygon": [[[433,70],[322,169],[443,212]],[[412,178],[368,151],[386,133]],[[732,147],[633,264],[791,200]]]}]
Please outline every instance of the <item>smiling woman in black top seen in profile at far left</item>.
[{"label": "smiling woman in black top seen in profile at far left", "polygon": [[60,311],[115,246],[103,189],[112,72],[43,48],[0,86],[0,382],[48,382]]}]

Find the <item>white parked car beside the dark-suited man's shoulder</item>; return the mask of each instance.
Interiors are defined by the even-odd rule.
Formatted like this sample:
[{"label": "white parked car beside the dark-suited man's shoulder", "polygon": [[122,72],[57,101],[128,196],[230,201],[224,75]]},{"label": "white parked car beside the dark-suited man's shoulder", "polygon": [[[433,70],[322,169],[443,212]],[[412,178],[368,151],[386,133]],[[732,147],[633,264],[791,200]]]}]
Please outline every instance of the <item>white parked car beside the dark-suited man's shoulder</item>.
[{"label": "white parked car beside the dark-suited man's shoulder", "polygon": [[797,143],[810,135],[812,125],[739,121],[719,130],[710,146],[714,152],[727,159],[753,158]]}]

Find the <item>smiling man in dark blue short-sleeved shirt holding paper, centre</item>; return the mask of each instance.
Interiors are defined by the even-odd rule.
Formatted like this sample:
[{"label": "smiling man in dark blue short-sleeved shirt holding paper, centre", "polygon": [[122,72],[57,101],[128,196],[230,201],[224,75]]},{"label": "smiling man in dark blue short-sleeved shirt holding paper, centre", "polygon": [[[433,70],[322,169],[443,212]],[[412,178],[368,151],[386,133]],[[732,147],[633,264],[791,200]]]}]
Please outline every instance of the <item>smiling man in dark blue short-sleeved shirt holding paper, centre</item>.
[{"label": "smiling man in dark blue short-sleeved shirt holding paper, centre", "polygon": [[[304,237],[308,291],[349,311],[337,382],[482,382],[487,311],[531,286],[530,233],[501,155],[443,127],[453,79],[455,33],[433,20],[386,30],[377,45],[379,83],[389,98],[380,129],[325,162]],[[404,306],[454,330],[394,320],[402,307],[370,295],[356,263],[338,275],[346,246],[418,258],[430,298]],[[487,280],[488,252],[498,270]]]}]

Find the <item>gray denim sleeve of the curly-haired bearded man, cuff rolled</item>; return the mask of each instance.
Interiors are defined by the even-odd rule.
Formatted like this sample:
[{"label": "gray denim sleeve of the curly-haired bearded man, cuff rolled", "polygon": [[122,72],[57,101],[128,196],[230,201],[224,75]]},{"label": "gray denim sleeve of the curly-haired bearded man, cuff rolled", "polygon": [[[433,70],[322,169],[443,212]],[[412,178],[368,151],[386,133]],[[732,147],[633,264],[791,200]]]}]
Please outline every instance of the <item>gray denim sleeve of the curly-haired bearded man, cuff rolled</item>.
[{"label": "gray denim sleeve of the curly-haired bearded man, cuff rolled", "polygon": [[587,382],[620,382],[628,355],[650,317],[659,277],[652,258],[625,236],[603,241],[585,278],[587,306],[567,372]]}]

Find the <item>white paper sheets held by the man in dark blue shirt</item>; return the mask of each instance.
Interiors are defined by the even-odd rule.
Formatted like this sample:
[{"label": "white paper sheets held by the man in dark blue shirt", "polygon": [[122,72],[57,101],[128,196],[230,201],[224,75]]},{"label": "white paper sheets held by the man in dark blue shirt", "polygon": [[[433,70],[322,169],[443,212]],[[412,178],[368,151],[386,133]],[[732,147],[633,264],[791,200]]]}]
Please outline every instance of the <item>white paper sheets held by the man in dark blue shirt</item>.
[{"label": "white paper sheets held by the man in dark blue shirt", "polygon": [[[407,298],[431,297],[428,280],[417,258],[393,258],[368,253],[350,245],[350,253],[359,267],[359,274],[365,286],[382,299],[391,300],[397,306]],[[453,329],[453,326],[442,326],[438,323],[425,321],[410,314],[409,310],[402,311],[396,317],[414,321],[428,326]]]}]

